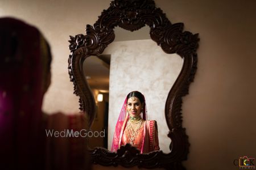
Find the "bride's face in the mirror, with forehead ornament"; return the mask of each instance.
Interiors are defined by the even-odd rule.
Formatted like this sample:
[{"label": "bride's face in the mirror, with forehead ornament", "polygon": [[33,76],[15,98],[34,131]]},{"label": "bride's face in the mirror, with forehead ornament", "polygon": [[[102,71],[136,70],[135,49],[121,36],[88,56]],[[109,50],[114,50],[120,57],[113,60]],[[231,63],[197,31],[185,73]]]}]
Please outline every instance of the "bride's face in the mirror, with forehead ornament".
[{"label": "bride's face in the mirror, with forehead ornament", "polygon": [[137,97],[130,97],[127,100],[127,111],[131,117],[138,116],[141,113],[142,104]]}]

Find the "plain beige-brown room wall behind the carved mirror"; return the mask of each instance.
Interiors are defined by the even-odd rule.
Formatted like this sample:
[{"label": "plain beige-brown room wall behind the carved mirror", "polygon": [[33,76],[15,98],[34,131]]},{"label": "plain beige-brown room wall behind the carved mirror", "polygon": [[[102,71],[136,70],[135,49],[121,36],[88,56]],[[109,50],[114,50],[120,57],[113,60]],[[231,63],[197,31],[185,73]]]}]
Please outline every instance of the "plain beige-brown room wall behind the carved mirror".
[{"label": "plain beige-brown room wall behind the carved mirror", "polygon": [[[67,74],[68,36],[84,33],[85,24],[93,24],[109,6],[106,0],[78,2],[0,1],[0,16],[27,20],[51,44],[53,79],[44,104],[48,112],[77,111]],[[172,23],[183,22],[186,30],[200,33],[195,82],[182,108],[191,143],[184,165],[187,169],[238,169],[233,159],[256,157],[256,1],[155,2]]]}]

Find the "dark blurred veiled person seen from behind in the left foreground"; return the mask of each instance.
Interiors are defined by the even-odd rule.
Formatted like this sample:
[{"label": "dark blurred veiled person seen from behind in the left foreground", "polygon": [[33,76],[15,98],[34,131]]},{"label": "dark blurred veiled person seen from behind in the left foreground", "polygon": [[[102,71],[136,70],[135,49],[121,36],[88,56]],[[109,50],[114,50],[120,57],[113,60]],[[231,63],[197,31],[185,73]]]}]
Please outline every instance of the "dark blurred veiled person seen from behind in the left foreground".
[{"label": "dark blurred veiled person seen from behind in the left foreground", "polygon": [[46,137],[46,129],[86,125],[81,114],[42,113],[49,62],[49,45],[38,29],[18,19],[0,19],[0,169],[77,169],[86,164],[85,139]]}]

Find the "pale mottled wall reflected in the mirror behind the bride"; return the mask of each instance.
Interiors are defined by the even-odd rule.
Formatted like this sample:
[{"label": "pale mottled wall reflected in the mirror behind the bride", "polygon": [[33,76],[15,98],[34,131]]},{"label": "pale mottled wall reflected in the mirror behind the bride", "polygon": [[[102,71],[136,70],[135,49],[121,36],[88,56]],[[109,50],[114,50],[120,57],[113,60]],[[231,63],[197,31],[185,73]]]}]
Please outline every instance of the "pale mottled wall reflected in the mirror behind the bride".
[{"label": "pale mottled wall reflected in the mirror behind the bride", "polygon": [[145,96],[148,120],[158,122],[159,147],[170,152],[170,138],[164,117],[168,93],[180,73],[183,59],[166,54],[152,40],[113,42],[105,50],[111,54],[109,76],[109,135],[111,150],[117,118],[125,97],[131,91]]}]

